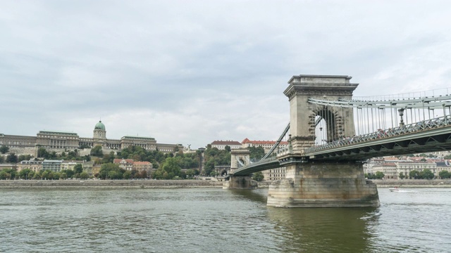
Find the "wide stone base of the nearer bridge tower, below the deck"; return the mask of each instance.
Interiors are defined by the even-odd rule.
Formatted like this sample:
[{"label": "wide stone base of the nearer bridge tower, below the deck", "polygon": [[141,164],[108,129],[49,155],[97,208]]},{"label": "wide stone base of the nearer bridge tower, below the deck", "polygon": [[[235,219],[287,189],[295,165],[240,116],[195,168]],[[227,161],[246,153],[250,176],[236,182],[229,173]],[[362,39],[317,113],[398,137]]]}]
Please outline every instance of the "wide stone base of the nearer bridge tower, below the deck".
[{"label": "wide stone base of the nearer bridge tower, below the deck", "polygon": [[269,186],[271,207],[378,207],[376,184],[365,180],[363,164],[289,164],[286,179]]}]

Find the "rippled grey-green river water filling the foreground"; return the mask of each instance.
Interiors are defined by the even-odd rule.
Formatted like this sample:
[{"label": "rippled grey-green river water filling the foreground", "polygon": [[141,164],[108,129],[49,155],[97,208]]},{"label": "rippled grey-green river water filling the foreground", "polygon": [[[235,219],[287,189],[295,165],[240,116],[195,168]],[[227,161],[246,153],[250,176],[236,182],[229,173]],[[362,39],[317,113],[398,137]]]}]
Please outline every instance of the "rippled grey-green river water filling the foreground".
[{"label": "rippled grey-green river water filling the foreground", "polygon": [[0,252],[451,252],[451,189],[279,209],[266,190],[0,190]]}]

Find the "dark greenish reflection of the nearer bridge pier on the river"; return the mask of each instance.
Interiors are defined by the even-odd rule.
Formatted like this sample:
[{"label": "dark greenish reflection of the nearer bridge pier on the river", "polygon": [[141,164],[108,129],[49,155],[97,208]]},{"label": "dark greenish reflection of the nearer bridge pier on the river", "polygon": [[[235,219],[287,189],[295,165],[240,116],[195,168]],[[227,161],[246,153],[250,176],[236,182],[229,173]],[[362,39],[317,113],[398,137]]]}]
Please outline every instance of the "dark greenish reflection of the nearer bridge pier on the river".
[{"label": "dark greenish reflection of the nearer bridge pier on the river", "polygon": [[268,217],[285,233],[288,252],[368,252],[369,222],[376,209],[268,208]]}]

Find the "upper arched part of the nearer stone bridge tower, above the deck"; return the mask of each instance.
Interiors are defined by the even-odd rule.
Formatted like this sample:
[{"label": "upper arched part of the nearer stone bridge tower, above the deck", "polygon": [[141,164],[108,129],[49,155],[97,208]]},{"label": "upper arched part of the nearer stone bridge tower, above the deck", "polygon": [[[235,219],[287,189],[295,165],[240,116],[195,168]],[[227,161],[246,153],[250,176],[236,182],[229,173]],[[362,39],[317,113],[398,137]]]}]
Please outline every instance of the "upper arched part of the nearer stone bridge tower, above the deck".
[{"label": "upper arched part of the nearer stone bridge tower, above the deck", "polygon": [[359,84],[351,84],[351,78],[300,74],[288,81],[289,86],[283,93],[290,100],[290,143],[293,153],[303,155],[304,148],[314,145],[316,116],[326,121],[329,141],[355,134],[352,108],[339,109],[308,102],[309,98],[335,101],[352,99],[352,91]]}]

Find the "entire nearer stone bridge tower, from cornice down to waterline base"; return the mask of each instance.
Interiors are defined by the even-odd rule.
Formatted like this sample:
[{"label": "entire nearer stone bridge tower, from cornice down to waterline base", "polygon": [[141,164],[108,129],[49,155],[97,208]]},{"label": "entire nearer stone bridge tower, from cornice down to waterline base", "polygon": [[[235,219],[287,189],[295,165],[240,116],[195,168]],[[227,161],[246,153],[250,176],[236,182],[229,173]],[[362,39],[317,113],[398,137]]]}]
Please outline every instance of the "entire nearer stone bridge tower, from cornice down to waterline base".
[{"label": "entire nearer stone bridge tower, from cornice down to waterline base", "polygon": [[352,108],[337,110],[308,102],[350,100],[358,84],[348,76],[294,76],[288,82],[285,96],[290,100],[290,145],[288,154],[277,159],[285,167],[285,179],[275,181],[268,189],[268,206],[273,207],[377,207],[376,184],[364,178],[362,162],[313,162],[304,148],[315,143],[316,119],[326,122],[330,138],[354,135]]}]

